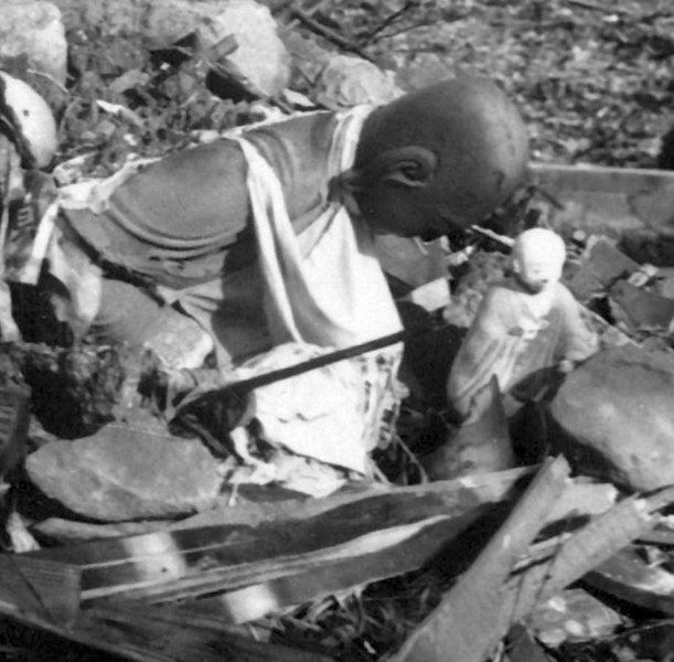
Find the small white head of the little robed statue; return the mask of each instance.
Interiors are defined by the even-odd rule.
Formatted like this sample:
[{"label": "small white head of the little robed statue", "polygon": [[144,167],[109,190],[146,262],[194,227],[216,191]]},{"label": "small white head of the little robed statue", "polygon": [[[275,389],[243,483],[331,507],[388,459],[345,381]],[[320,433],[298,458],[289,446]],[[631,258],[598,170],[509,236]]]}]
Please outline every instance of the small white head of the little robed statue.
[{"label": "small white head of the little robed statue", "polygon": [[515,239],[512,255],[515,278],[533,295],[561,278],[566,246],[552,229],[533,227],[523,232]]}]

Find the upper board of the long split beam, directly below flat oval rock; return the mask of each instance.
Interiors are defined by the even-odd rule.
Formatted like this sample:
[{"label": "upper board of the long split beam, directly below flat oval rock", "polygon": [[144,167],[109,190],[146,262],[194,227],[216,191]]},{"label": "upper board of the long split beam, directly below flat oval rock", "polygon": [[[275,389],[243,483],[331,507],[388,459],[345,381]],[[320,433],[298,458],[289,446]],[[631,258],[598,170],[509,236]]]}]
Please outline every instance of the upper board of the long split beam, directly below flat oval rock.
[{"label": "upper board of the long split beam, directly below flat oval rock", "polygon": [[82,568],[83,597],[105,587],[165,584],[217,568],[291,557],[331,547],[373,532],[452,517],[483,503],[503,501],[528,471],[448,481],[447,484],[373,490],[338,500],[339,505],[307,520],[257,527],[207,526],[42,549],[29,556]]}]

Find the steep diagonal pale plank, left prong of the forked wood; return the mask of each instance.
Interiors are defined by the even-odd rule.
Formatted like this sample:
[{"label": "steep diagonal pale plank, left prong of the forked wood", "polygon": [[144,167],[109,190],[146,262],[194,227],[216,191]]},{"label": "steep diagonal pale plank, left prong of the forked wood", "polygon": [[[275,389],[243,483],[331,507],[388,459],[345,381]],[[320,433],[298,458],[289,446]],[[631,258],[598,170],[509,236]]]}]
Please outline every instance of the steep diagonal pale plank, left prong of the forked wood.
[{"label": "steep diagonal pale plank, left prong of the forked wood", "polygon": [[[526,552],[546,512],[564,492],[570,468],[548,460],[515,509],[464,573],[394,656],[395,662],[482,662],[500,632],[501,606],[494,596]],[[499,641],[505,632],[500,632]]]}]

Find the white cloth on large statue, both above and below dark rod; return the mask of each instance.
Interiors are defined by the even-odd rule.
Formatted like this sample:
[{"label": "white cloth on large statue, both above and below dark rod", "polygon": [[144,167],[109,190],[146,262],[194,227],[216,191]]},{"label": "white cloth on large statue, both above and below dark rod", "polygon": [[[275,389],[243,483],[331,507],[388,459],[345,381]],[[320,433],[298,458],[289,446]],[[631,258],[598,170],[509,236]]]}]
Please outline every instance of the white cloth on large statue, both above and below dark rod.
[{"label": "white cloth on large statue, both above and below dark rod", "polygon": [[[356,108],[340,118],[329,157],[333,177],[353,164],[368,111]],[[248,162],[247,185],[272,344],[307,343],[304,357],[309,357],[315,354],[315,345],[345,348],[400,330],[368,227],[354,222],[338,200],[296,235],[278,178],[245,136],[238,141]],[[282,354],[295,363],[302,352]],[[323,375],[307,375],[308,388],[291,381],[277,385],[274,402],[297,404],[297,410],[286,412],[282,420],[278,405],[269,406],[269,397],[260,394],[256,417],[265,436],[296,453],[365,472],[382,415],[395,399],[400,355],[398,343],[359,359],[355,365],[344,362],[325,369]],[[279,386],[286,387],[286,396]],[[309,402],[292,397],[300,392]]]}]

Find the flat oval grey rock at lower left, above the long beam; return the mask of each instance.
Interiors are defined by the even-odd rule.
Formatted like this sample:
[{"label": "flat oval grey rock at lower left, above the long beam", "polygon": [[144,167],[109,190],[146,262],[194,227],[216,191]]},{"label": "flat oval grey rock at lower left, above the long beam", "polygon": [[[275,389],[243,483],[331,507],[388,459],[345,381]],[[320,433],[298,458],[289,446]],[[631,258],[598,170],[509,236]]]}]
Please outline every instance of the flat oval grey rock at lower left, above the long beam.
[{"label": "flat oval grey rock at lower left, above the long beam", "polygon": [[211,508],[222,479],[196,439],[109,425],[29,456],[31,481],[78,515],[107,522],[176,517]]}]

